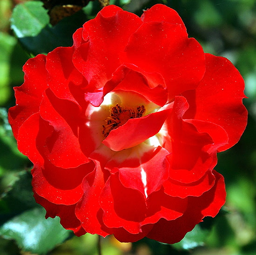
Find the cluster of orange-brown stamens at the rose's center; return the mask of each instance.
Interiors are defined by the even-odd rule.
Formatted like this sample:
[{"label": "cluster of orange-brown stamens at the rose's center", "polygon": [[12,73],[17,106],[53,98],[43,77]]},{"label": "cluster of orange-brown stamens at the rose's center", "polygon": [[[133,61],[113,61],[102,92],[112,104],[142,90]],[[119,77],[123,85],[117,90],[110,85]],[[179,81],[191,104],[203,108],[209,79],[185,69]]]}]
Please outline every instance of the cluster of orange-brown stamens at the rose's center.
[{"label": "cluster of orange-brown stamens at the rose's center", "polygon": [[144,105],[136,108],[121,107],[119,104],[110,105],[110,115],[105,120],[106,125],[102,125],[102,134],[106,138],[111,130],[125,124],[129,119],[140,118],[145,113],[146,109]]}]

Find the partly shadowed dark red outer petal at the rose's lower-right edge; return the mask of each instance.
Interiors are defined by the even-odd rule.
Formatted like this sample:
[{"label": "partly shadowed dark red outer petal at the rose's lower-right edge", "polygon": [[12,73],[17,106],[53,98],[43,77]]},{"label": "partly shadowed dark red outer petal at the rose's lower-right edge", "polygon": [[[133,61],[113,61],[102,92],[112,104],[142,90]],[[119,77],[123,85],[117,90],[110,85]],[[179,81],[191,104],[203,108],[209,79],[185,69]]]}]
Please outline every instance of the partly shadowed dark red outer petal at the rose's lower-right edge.
[{"label": "partly shadowed dark red outer petal at the rose's lower-right edge", "polygon": [[158,221],[147,237],[165,243],[179,242],[205,216],[216,216],[225,202],[226,192],[221,174],[213,173],[216,176],[213,188],[200,197],[190,197],[188,209],[182,217],[174,221]]}]

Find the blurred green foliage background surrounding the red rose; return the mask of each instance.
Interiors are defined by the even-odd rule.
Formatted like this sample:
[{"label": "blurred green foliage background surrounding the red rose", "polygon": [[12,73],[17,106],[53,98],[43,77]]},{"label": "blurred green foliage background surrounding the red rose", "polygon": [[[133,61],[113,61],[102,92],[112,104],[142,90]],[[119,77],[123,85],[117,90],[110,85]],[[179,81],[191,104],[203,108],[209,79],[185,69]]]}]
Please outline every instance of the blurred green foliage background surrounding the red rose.
[{"label": "blurred green foliage background surrounding the red rose", "polygon": [[[227,57],[241,72],[246,84],[248,99],[244,104],[249,110],[249,120],[241,141],[219,154],[216,170],[225,177],[227,202],[216,218],[206,219],[175,245],[149,239],[122,244],[110,236],[102,240],[102,254],[256,255],[256,1],[110,2],[138,15],[156,3],[174,8],[182,17],[189,36],[195,37],[205,52]],[[22,84],[25,61],[57,46],[71,46],[74,31],[99,10],[100,5],[95,0],[52,26],[40,1],[0,1],[1,255],[97,254],[97,236],[75,237],[60,226],[58,218],[44,219],[44,209],[33,198],[29,174],[32,165],[16,147],[7,121],[7,108],[15,104],[12,87]]]}]

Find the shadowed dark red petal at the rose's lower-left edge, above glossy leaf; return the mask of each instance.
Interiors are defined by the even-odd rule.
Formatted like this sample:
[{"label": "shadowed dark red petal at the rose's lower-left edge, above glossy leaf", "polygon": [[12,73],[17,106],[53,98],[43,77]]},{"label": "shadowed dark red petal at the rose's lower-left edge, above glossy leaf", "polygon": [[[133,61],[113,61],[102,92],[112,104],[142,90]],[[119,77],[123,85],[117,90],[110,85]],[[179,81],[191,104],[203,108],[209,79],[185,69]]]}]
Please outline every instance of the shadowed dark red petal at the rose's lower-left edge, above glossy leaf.
[{"label": "shadowed dark red petal at the rose's lower-left edge, above glossy leaf", "polygon": [[74,234],[77,236],[86,234],[85,230],[81,227],[81,222],[74,214],[75,205],[55,205],[36,193],[34,194],[34,198],[37,203],[46,209],[46,218],[59,216],[61,218],[61,225],[64,228],[73,230]]}]

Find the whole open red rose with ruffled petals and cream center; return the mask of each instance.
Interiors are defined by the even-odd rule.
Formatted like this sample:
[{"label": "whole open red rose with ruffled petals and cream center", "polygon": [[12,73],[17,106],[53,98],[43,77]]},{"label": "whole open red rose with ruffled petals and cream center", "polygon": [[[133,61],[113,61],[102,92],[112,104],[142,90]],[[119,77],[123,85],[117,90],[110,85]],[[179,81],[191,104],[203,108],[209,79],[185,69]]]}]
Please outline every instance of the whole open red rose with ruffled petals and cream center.
[{"label": "whole open red rose with ruffled petals and cream center", "polygon": [[75,235],[175,243],[218,213],[213,168],[246,126],[244,82],[173,9],[105,7],[24,73],[9,121],[47,217]]}]

